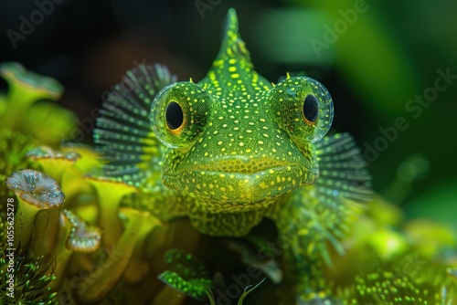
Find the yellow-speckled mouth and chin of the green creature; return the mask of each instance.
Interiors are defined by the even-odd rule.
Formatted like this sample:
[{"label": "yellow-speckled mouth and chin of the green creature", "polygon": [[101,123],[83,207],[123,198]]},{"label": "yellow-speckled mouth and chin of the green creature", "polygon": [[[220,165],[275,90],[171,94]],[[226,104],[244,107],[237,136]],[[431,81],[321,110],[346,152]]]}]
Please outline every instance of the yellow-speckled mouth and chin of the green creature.
[{"label": "yellow-speckled mouth and chin of the green creature", "polygon": [[225,162],[207,163],[205,166],[184,167],[177,174],[164,174],[166,186],[224,211],[233,208],[257,208],[271,199],[291,192],[303,185],[313,184],[317,170],[298,163],[276,161],[238,166]]}]

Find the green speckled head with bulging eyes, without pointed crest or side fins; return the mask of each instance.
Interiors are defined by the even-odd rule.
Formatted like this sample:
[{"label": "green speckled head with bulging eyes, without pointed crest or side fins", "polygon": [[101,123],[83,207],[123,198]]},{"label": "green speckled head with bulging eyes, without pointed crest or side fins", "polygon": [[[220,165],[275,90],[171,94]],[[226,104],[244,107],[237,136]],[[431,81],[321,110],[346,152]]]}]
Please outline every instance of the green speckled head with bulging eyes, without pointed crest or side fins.
[{"label": "green speckled head with bulging eyes, without pointed crest or side fins", "polygon": [[153,130],[168,147],[166,186],[227,211],[314,183],[313,142],[333,117],[320,83],[297,77],[246,96],[235,86],[227,95],[218,92],[205,83],[179,82],[154,100]]}]

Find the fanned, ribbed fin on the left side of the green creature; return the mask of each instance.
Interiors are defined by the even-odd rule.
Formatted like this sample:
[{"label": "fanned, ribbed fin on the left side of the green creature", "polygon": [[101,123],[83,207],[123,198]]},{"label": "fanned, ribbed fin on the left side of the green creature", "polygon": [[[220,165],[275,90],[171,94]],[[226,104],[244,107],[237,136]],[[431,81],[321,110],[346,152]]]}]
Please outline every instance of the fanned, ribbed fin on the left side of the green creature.
[{"label": "fanned, ribbed fin on the left side of the green creature", "polygon": [[128,71],[103,101],[94,141],[109,162],[102,175],[128,184],[154,187],[161,152],[151,131],[149,112],[160,89],[176,81],[165,66],[140,64]]}]

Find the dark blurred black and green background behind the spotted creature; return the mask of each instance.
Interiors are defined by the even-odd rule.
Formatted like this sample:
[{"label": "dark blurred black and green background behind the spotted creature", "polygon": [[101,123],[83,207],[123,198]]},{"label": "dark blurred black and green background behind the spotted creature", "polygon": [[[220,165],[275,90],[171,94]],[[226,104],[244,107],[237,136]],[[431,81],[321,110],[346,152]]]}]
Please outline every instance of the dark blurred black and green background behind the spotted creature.
[{"label": "dark blurred black and green background behind the spotted creature", "polygon": [[61,105],[90,128],[103,93],[138,62],[204,77],[228,7],[261,75],[304,73],[329,89],[333,131],[355,136],[377,193],[407,217],[457,226],[456,1],[2,1],[0,61],[58,79]]}]

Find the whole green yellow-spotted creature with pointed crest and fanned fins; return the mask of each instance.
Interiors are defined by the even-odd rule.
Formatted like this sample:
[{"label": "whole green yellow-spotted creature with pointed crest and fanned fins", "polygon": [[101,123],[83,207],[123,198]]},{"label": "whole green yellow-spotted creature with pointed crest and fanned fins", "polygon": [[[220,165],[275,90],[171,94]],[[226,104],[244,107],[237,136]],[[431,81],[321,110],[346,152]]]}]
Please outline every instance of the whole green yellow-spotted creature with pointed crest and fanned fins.
[{"label": "whole green yellow-spotted creature with pointed crest and fanned fins", "polygon": [[322,84],[272,84],[254,70],[234,9],[224,29],[198,83],[141,64],[113,87],[94,132],[103,174],[142,189],[155,216],[187,216],[209,236],[242,237],[271,218],[289,240],[297,301],[326,300],[326,247],[342,252],[369,198],[365,163],[348,134],[324,137],[334,110]]}]

